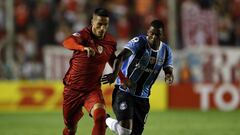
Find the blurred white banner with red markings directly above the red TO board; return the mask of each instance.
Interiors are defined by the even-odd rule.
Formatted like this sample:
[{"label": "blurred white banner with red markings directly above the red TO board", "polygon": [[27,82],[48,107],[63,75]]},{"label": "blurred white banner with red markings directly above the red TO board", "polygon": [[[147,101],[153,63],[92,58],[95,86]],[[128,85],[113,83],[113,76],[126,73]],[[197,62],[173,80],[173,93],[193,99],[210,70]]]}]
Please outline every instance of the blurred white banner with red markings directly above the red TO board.
[{"label": "blurred white banner with red markings directly above the red TO board", "polygon": [[240,84],[240,49],[193,49],[175,54],[175,83]]}]

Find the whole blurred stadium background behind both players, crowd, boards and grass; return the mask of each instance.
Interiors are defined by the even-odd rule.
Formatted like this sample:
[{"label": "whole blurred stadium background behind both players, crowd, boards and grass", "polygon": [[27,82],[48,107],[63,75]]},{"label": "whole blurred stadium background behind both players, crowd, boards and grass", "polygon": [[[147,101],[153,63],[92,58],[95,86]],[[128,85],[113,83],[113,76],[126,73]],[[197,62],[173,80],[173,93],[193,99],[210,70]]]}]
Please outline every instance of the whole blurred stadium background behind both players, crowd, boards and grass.
[{"label": "whole blurred stadium background behind both players, crowd, boards and grass", "polygon": [[[99,6],[111,11],[118,51],[152,19],[165,24],[175,82],[167,86],[161,74],[153,86],[145,135],[240,133],[240,0],[1,0],[1,135],[61,134],[71,57],[61,42]],[[103,86],[109,112],[111,91]],[[90,134],[91,125],[85,115],[78,134]]]}]

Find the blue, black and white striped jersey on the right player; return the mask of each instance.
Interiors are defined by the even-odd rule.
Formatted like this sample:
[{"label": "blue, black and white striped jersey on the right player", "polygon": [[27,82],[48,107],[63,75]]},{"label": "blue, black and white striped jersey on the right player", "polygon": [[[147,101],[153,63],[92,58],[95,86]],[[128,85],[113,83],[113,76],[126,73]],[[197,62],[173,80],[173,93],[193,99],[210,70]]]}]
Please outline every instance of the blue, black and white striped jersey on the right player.
[{"label": "blue, black and white striped jersey on the right player", "polygon": [[[137,97],[148,98],[161,69],[173,66],[172,50],[163,42],[160,42],[158,50],[153,50],[145,35],[133,38],[124,48],[129,49],[132,55],[123,61],[121,71],[135,85],[131,89],[125,90],[121,86],[119,89]],[[116,84],[121,84],[119,77]]]}]

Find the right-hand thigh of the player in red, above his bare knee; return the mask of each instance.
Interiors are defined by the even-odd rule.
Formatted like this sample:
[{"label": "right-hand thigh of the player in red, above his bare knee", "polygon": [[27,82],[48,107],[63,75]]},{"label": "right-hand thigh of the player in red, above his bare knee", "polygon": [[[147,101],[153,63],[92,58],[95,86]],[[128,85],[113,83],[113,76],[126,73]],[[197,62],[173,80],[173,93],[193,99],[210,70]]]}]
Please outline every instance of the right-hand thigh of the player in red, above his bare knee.
[{"label": "right-hand thigh of the player in red, above his bare knee", "polygon": [[101,89],[96,89],[88,93],[84,101],[84,107],[89,114],[91,114],[92,109],[105,109],[105,101]]}]

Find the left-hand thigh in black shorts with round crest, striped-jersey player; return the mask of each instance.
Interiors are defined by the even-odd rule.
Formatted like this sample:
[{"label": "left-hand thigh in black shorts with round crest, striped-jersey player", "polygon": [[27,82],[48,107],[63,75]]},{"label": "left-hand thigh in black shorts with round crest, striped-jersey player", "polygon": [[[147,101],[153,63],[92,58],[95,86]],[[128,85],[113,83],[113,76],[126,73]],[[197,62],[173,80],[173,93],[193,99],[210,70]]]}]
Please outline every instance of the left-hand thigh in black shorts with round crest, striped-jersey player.
[{"label": "left-hand thigh in black shorts with round crest, striped-jersey player", "polygon": [[133,97],[126,92],[120,91],[117,87],[113,93],[113,111],[118,121],[128,120],[133,118]]}]

